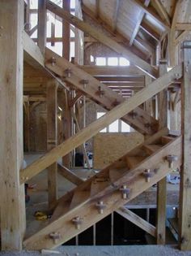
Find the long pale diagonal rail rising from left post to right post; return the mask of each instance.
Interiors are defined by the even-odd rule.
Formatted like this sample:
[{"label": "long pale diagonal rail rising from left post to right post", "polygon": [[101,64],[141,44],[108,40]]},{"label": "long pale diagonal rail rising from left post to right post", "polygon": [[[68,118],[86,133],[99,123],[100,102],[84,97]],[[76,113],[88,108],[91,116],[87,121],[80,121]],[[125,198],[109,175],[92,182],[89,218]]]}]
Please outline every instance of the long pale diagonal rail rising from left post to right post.
[{"label": "long pale diagonal rail rising from left post to right post", "polygon": [[57,158],[68,154],[71,150],[81,145],[84,141],[87,141],[88,139],[93,137],[97,132],[102,130],[108,124],[111,124],[113,121],[121,118],[128,112],[133,111],[134,108],[136,108],[143,102],[146,102],[148,98],[151,98],[156,93],[159,93],[161,90],[166,89],[168,85],[172,83],[172,80],[177,74],[179,74],[179,76],[181,77],[181,73],[181,65],[173,67],[170,72],[168,72],[164,76],[159,77],[158,80],[155,80],[146,88],[134,94],[134,96],[132,98],[129,98],[128,101],[122,102],[120,105],[114,107],[112,111],[108,111],[108,113],[100,117],[100,119],[97,119],[95,122],[88,125],[87,128],[83,128],[73,137],[70,137],[70,139],[66,140],[61,145],[58,145],[57,148],[50,150],[49,153],[45,154],[36,162],[32,163],[30,166],[20,171],[20,183],[23,184],[25,180],[32,178],[32,176],[35,176],[46,167],[49,167],[49,165],[57,161]]}]

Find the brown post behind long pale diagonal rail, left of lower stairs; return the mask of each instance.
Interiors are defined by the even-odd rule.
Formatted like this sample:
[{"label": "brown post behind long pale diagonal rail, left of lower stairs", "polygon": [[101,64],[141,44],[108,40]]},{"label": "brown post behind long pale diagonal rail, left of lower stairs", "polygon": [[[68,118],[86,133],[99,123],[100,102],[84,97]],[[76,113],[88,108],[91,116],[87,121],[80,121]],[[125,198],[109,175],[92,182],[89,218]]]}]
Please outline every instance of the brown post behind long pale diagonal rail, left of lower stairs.
[{"label": "brown post behind long pale diagonal rail, left of lower stairs", "polygon": [[[47,85],[47,150],[57,145],[57,81]],[[49,207],[57,202],[57,163],[48,167]]]}]

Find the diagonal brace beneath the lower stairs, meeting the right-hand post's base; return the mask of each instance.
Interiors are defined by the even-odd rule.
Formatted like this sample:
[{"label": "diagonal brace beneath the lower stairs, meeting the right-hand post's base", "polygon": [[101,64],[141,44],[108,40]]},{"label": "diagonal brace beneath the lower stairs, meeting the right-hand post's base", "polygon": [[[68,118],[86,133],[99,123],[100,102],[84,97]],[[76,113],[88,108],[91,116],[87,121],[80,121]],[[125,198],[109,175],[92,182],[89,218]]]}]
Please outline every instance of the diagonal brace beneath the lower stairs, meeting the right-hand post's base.
[{"label": "diagonal brace beneath the lower stairs, meeting the right-hand post's base", "polygon": [[142,219],[138,215],[135,215],[133,211],[127,209],[125,206],[120,207],[118,210],[116,210],[116,212],[117,214],[123,216],[125,219],[128,219],[130,222],[134,223],[139,228],[142,228],[151,236],[156,236],[155,226],[147,222],[145,219]]}]

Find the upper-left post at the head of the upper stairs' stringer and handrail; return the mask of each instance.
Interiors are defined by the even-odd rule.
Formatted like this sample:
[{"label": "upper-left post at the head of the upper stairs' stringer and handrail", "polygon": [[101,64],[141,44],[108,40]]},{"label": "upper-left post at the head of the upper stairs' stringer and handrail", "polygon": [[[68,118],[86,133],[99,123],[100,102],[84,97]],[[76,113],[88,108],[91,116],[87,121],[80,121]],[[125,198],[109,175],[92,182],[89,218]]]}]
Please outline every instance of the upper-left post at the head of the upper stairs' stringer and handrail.
[{"label": "upper-left post at the head of the upper stairs' stringer and handrail", "polygon": [[46,46],[46,0],[38,0],[38,36],[37,44],[45,54]]}]

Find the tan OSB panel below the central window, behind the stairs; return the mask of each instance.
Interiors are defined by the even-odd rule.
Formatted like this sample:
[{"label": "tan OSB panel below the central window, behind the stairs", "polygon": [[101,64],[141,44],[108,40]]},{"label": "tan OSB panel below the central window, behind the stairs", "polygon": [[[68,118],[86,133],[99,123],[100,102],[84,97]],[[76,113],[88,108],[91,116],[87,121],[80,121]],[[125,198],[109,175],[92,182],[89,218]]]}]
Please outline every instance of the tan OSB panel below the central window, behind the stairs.
[{"label": "tan OSB panel below the central window, behind the stairs", "polygon": [[143,142],[138,132],[98,133],[93,141],[93,167],[102,169]]}]

